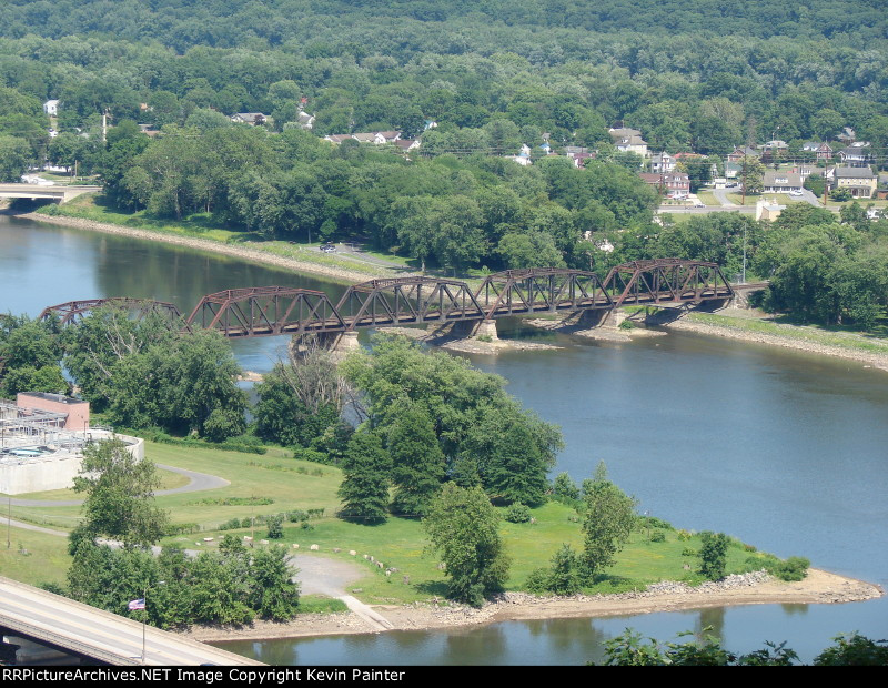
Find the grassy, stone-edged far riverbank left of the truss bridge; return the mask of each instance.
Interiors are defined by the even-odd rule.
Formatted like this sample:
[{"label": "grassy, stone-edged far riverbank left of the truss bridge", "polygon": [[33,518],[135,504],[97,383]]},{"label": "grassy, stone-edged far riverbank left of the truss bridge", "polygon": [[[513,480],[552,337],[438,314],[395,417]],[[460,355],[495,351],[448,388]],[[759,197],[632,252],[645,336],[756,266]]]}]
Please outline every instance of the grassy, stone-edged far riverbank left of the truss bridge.
[{"label": "grassy, stone-edged far riverbank left of the truss bridge", "polygon": [[[329,280],[345,284],[354,284],[357,282],[366,282],[373,279],[393,277],[393,276],[410,276],[414,273],[394,271],[379,265],[366,264],[364,267],[366,272],[359,270],[349,270],[342,266],[324,265],[307,260],[300,260],[297,257],[289,257],[272,253],[271,251],[263,250],[259,242],[244,242],[238,244],[223,243],[212,239],[198,239],[194,236],[183,236],[167,232],[158,232],[152,230],[142,230],[135,227],[128,227],[120,224],[110,224],[107,222],[97,222],[94,220],[85,220],[83,217],[69,217],[65,215],[44,215],[42,213],[14,213],[16,217],[24,217],[34,222],[44,222],[47,224],[56,224],[59,226],[72,227],[75,230],[85,230],[89,232],[103,232],[105,234],[117,234],[119,236],[131,236],[133,239],[142,239],[147,241],[160,241],[175,246],[188,246],[190,249],[198,249],[200,251],[210,251],[212,253],[220,253],[231,257],[236,257],[243,261],[260,263],[274,267],[283,267],[296,272],[304,272]],[[320,255],[319,255],[320,257]]]}]

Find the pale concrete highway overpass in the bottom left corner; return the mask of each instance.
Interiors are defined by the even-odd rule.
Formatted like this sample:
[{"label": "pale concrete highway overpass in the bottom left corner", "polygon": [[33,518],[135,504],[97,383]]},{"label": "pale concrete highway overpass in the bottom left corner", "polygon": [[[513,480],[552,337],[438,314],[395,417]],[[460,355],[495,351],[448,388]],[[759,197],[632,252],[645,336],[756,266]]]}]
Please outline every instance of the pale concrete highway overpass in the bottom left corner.
[{"label": "pale concrete highway overpass in the bottom left corner", "polygon": [[[2,577],[0,633],[110,665],[142,664],[142,624]],[[147,665],[262,664],[151,626],[144,634]]]}]

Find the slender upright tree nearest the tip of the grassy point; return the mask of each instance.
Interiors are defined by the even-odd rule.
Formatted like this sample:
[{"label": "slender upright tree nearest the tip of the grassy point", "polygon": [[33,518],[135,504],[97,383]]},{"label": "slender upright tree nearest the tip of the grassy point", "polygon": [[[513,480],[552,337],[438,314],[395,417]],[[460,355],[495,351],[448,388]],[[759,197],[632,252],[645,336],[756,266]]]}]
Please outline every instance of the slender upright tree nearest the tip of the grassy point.
[{"label": "slender upright tree nearest the tip of the grassy point", "polygon": [[617,552],[629,539],[635,525],[637,502],[606,479],[603,464],[591,482],[584,482],[586,517],[583,533],[586,536],[583,563],[585,575],[593,578],[602,569],[614,565]]}]

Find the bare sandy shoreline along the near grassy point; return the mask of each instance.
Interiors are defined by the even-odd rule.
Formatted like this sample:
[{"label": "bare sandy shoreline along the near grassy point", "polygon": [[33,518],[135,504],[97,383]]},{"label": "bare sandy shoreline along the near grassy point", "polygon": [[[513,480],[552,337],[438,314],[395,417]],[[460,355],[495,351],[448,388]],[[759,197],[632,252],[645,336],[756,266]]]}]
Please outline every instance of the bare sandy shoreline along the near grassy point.
[{"label": "bare sandy shoreline along the near grassy point", "polygon": [[[521,619],[605,617],[655,611],[678,611],[704,607],[770,604],[841,604],[881,597],[876,585],[816,568],[798,583],[784,583],[763,573],[728,576],[719,583],[690,588],[679,583],[659,583],[645,591],[619,595],[535,597],[506,593],[481,609],[464,605],[376,605],[392,630],[432,630],[477,626]],[[286,624],[260,621],[244,628],[192,628],[184,635],[204,643],[268,640],[309,636],[379,633],[352,613],[304,615]]]}]

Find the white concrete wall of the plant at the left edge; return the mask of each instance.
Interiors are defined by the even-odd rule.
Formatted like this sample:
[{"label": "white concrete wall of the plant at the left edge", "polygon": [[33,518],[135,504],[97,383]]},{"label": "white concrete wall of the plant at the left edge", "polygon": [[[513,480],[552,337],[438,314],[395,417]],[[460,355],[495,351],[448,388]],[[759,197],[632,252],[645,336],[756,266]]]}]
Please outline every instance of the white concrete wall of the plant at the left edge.
[{"label": "white concrete wall of the plant at the left edge", "polygon": [[[93,439],[108,439],[112,435],[108,431],[90,431],[89,436]],[[137,461],[145,457],[144,439],[128,435],[118,435],[118,438],[127,443],[127,451]],[[62,454],[22,463],[0,463],[0,493],[21,495],[73,487],[81,462],[80,454]]]}]

